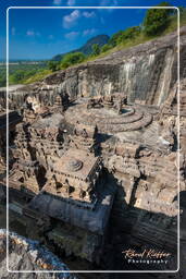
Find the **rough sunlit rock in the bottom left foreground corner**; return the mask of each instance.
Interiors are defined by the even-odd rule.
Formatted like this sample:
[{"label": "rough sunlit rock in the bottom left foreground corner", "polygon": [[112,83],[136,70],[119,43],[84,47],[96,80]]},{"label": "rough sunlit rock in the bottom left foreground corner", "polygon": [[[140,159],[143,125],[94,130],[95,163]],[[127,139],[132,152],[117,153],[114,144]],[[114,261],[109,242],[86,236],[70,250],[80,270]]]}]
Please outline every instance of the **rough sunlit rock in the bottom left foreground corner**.
[{"label": "rough sunlit rock in the bottom left foreground corner", "polygon": [[[10,274],[7,270],[7,231],[0,230],[0,272],[1,278],[26,278],[26,279],[75,279],[70,274],[66,265],[60,262],[60,259],[49,252],[44,246],[39,245],[39,242],[32,241],[20,236],[16,233],[9,233],[9,270],[10,271],[23,271],[23,274]],[[24,270],[30,270],[29,274],[24,274]],[[45,274],[34,274],[34,271],[49,271]],[[50,272],[52,270],[59,270],[61,272]]]}]

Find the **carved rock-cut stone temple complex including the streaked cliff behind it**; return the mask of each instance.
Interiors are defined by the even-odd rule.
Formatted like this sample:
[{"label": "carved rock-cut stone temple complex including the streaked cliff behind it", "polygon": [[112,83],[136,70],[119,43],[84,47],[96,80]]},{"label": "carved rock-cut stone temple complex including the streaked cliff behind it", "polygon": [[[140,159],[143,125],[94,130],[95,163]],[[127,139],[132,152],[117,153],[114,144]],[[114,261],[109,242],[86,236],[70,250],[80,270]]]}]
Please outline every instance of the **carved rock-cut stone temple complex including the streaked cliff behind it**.
[{"label": "carved rock-cut stone temple complex including the streaked cliff behind it", "polygon": [[138,269],[123,257],[129,247],[163,248],[172,259],[156,268],[176,269],[178,215],[183,259],[186,240],[185,27],[181,43],[179,111],[174,33],[10,92],[9,162],[0,90],[1,227],[8,184],[11,230],[71,269]]}]

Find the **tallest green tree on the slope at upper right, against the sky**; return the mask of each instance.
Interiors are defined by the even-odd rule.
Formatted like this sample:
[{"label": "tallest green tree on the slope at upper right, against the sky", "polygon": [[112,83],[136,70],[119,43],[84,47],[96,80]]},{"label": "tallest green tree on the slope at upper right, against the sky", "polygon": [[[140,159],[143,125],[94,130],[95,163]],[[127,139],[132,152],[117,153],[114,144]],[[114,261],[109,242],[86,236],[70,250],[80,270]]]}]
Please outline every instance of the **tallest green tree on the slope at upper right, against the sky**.
[{"label": "tallest green tree on the slope at upper right, against the sky", "polygon": [[[171,7],[169,2],[161,2],[159,7]],[[169,24],[171,9],[149,9],[144,21],[144,32],[148,36],[154,36],[165,29]]]}]

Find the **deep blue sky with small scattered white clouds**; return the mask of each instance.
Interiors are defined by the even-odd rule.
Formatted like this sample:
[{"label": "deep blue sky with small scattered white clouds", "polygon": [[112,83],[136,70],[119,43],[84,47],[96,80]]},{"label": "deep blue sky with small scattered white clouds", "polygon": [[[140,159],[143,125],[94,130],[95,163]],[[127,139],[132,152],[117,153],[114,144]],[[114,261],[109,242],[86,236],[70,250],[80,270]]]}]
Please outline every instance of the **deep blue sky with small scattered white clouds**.
[{"label": "deep blue sky with small scattered white clouds", "polygon": [[[0,0],[0,60],[5,59],[9,9],[10,59],[51,59],[83,46],[89,38],[139,25],[144,9],[88,9],[88,7],[158,5],[161,0]],[[174,7],[185,0],[170,0]],[[14,9],[51,7],[52,9]],[[59,9],[65,7],[65,9]],[[71,8],[73,7],[73,8]],[[77,9],[83,7],[84,9]]]}]

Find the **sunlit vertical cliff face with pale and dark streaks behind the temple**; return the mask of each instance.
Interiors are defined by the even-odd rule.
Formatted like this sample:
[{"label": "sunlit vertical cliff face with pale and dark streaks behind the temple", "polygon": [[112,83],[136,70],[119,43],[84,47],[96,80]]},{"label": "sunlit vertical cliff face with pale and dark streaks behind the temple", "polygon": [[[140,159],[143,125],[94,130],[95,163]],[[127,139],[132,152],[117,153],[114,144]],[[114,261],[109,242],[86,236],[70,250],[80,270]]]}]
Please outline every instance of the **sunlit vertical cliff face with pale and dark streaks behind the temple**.
[{"label": "sunlit vertical cliff face with pale and dark streaks behind the temple", "polygon": [[[177,33],[60,71],[45,83],[75,97],[122,92],[134,102],[160,106],[177,81]],[[186,76],[186,26],[181,29],[181,78]]]}]

